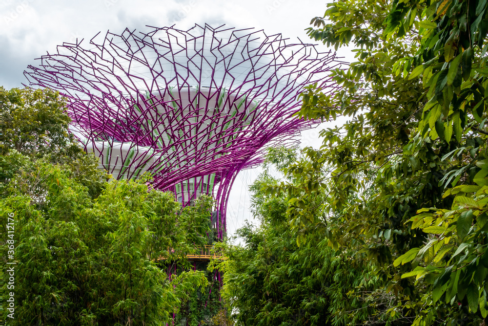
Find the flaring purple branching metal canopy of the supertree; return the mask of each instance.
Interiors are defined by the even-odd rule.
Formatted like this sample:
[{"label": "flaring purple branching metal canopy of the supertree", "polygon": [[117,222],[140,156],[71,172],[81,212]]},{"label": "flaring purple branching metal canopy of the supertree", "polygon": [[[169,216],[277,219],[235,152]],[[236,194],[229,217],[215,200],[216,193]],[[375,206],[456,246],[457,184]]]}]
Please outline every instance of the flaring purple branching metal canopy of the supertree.
[{"label": "flaring purple branching metal canopy of the supertree", "polygon": [[202,193],[217,205],[221,238],[226,201],[239,171],[262,162],[310,123],[293,117],[303,87],[332,91],[335,53],[286,43],[281,34],[207,25],[150,27],[63,43],[24,72],[30,85],[68,99],[71,130],[115,178],[149,172],[152,186],[183,205]]}]

